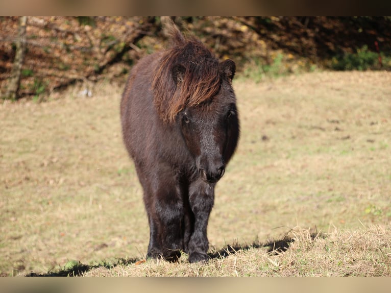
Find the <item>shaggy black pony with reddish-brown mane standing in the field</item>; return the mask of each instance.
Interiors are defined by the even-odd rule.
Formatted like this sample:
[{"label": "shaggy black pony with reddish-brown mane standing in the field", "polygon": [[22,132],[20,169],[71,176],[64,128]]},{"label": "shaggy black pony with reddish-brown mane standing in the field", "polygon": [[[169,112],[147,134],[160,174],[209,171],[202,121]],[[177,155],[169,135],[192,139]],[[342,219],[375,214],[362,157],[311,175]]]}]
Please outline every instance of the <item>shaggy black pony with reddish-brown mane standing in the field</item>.
[{"label": "shaggy black pony with reddish-brown mane standing in the field", "polygon": [[221,63],[170,22],[173,46],[135,65],[121,100],[121,124],[150,226],[147,258],[208,260],[214,187],[239,137],[235,63]]}]

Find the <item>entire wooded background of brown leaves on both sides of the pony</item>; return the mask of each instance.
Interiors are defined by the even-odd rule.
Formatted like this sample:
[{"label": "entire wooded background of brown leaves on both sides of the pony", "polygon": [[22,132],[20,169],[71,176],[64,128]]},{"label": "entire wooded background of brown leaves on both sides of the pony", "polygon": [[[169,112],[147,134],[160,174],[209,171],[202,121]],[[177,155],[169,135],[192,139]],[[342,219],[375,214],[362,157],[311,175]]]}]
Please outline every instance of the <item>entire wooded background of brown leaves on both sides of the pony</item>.
[{"label": "entire wooded background of brown leaves on both sides of the pony", "polygon": [[[299,71],[389,70],[391,67],[387,57],[391,43],[390,17],[174,19],[182,31],[200,38],[218,58],[233,59],[238,72],[245,72],[256,81],[266,76],[296,73],[298,67]],[[2,89],[14,60],[17,22],[17,17],[4,17],[0,22]],[[382,67],[376,61],[375,41],[379,43]],[[44,92],[65,88],[79,80],[108,79],[124,83],[126,72],[140,57],[167,45],[160,17],[29,17],[27,52],[22,67],[25,74],[21,76],[18,95],[37,94],[35,77],[47,82]],[[278,54],[283,55],[281,60]]]}]

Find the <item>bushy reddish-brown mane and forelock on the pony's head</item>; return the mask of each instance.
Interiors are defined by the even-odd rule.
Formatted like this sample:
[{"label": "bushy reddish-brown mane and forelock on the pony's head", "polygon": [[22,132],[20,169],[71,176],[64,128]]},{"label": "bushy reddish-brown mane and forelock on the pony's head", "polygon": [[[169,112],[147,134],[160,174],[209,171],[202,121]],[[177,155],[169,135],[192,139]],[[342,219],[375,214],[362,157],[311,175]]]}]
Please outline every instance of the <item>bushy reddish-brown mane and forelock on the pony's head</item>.
[{"label": "bushy reddish-brown mane and forelock on the pony's head", "polygon": [[161,53],[153,73],[154,104],[163,121],[172,123],[186,106],[215,95],[220,87],[218,60],[194,37],[185,38],[170,28],[173,46]]}]

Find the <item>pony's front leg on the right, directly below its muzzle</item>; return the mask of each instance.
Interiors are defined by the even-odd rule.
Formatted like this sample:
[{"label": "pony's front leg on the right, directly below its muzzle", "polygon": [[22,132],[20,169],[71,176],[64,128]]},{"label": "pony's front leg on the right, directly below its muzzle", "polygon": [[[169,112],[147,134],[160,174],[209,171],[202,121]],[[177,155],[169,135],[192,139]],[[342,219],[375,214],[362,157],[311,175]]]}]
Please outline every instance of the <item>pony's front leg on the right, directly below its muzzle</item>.
[{"label": "pony's front leg on the right, directly below its muzzle", "polygon": [[208,261],[207,226],[214,203],[214,184],[201,179],[190,184],[189,204],[194,214],[194,226],[188,244],[189,262]]}]

